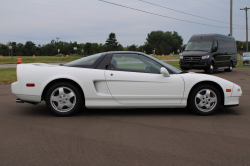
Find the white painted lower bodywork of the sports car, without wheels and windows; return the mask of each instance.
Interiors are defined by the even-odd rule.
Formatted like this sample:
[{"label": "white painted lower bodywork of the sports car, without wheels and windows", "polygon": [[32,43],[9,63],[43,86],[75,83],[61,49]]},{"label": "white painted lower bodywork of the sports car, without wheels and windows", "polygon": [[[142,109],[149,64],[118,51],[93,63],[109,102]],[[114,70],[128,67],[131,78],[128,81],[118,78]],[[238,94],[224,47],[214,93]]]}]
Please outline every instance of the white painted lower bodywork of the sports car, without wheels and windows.
[{"label": "white painted lower bodywork of the sports car, without wheels and windows", "polygon": [[[113,74],[113,76],[111,76]],[[57,79],[77,83],[84,92],[87,108],[167,108],[185,107],[192,87],[203,81],[217,83],[224,93],[224,105],[239,104],[240,87],[206,74],[148,74],[48,64],[17,65],[18,81],[11,86],[20,100],[41,102],[46,85]],[[27,83],[35,87],[27,87]],[[232,92],[226,92],[231,89]],[[112,95],[111,95],[112,94]]]}]

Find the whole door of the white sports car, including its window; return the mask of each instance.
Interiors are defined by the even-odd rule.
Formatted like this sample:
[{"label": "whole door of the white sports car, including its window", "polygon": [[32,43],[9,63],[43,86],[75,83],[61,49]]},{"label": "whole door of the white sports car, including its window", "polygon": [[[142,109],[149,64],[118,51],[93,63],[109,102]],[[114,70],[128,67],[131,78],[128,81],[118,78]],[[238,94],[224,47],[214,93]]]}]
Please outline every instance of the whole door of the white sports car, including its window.
[{"label": "whole door of the white sports car, including its window", "polygon": [[164,77],[162,66],[140,54],[113,54],[110,70],[105,72],[108,89],[121,104],[176,104],[184,92],[178,74]]}]

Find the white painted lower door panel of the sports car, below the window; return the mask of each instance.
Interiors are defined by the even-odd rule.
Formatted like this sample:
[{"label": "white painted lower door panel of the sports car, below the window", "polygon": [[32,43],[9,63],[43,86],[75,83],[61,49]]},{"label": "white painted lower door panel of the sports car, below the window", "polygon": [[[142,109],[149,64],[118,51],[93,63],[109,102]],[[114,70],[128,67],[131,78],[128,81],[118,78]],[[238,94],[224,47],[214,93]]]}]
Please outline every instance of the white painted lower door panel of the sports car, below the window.
[{"label": "white painted lower door panel of the sports car, below the window", "polygon": [[180,104],[184,81],[180,75],[107,70],[107,85],[114,99],[121,104]]}]

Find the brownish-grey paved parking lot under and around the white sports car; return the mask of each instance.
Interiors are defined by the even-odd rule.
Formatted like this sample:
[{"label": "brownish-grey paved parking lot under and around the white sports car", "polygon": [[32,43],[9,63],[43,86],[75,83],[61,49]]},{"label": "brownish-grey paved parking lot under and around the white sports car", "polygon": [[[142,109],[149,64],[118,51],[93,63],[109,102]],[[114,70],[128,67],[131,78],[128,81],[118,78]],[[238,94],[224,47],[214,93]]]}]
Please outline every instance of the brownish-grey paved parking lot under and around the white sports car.
[{"label": "brownish-grey paved parking lot under and around the white sports car", "polygon": [[[203,71],[194,71],[203,73]],[[0,85],[0,165],[250,165],[250,69],[213,75],[241,86],[238,107],[83,110],[55,117]]]}]

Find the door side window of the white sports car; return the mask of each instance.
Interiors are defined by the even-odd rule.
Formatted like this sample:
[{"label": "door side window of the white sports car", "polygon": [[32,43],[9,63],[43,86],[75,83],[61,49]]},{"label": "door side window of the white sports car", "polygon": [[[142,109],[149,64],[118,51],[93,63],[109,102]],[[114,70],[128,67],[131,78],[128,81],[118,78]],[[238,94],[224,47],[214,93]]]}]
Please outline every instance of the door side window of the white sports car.
[{"label": "door side window of the white sports car", "polygon": [[160,74],[161,65],[139,54],[113,54],[111,69]]}]

